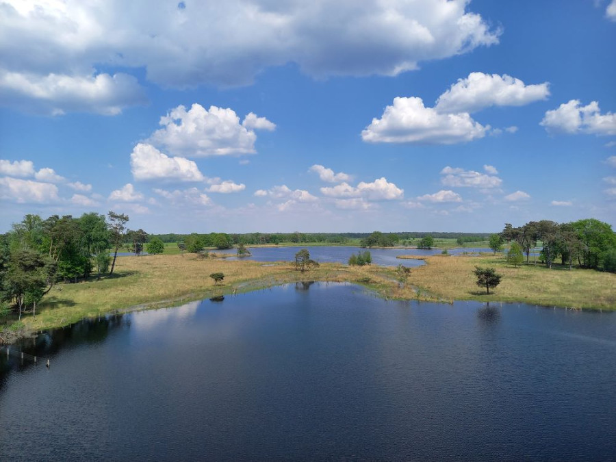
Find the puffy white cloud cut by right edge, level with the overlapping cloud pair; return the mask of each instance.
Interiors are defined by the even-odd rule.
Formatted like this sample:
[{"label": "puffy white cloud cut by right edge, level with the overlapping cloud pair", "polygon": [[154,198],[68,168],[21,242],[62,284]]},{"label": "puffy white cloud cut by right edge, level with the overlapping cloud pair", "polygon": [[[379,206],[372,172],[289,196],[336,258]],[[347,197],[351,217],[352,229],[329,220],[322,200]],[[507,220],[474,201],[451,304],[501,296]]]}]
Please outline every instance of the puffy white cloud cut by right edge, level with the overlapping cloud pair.
[{"label": "puffy white cloud cut by right edge, level with the overlapping cloud pair", "polygon": [[616,135],[616,114],[601,114],[597,101],[582,106],[580,100],[572,99],[546,112],[540,125],[546,127],[548,133]]}]

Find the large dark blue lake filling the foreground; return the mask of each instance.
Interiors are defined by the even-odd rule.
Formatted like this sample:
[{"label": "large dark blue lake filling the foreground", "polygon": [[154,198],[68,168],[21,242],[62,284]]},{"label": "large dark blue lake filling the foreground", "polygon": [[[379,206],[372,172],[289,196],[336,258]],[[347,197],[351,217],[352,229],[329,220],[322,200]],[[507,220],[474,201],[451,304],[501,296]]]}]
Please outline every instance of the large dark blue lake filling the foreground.
[{"label": "large dark blue lake filling the foreground", "polygon": [[608,460],[616,316],[301,283],[0,352],[0,460]]}]

